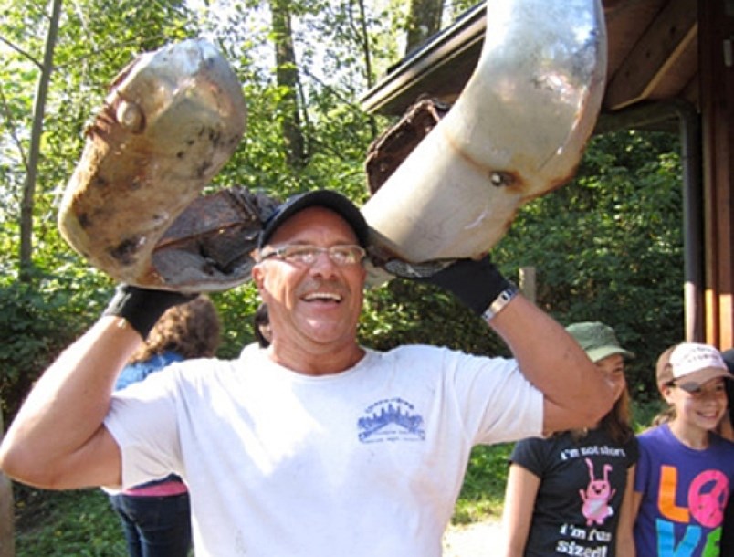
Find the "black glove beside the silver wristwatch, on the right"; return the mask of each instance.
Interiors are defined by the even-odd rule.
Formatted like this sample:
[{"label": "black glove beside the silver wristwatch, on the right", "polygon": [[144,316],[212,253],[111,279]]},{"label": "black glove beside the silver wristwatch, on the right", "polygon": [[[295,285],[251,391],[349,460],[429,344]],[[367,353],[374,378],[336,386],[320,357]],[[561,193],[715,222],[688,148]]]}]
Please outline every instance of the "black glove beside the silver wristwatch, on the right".
[{"label": "black glove beside the silver wristwatch, on the right", "polygon": [[478,261],[457,259],[454,263],[431,275],[420,278],[421,282],[435,284],[453,292],[470,310],[481,315],[489,304],[511,286],[509,280],[492,263],[489,256]]}]

